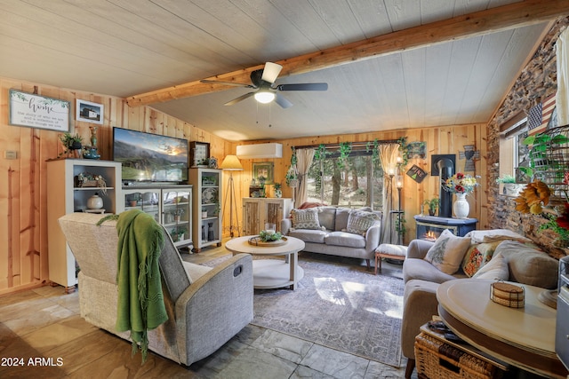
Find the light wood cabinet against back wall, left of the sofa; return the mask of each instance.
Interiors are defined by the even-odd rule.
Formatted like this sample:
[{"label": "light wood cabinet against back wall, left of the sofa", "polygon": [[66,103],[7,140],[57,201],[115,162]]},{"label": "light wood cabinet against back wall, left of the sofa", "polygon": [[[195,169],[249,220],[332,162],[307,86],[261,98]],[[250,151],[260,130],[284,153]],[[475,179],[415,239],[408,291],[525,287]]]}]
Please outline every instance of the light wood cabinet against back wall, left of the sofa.
[{"label": "light wood cabinet against back wall, left of the sofa", "polygon": [[265,223],[276,224],[281,230],[281,220],[293,209],[293,199],[245,197],[243,199],[243,233],[259,234]]}]

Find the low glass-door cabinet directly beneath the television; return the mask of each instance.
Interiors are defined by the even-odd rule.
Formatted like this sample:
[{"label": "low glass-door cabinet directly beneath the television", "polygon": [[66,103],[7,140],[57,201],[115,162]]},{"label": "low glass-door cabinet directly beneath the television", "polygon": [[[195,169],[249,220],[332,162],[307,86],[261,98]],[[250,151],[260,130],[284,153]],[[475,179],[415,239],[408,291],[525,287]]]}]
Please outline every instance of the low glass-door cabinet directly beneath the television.
[{"label": "low glass-door cabinet directly beneath the television", "polygon": [[164,225],[178,248],[192,249],[192,186],[124,186],[124,209],[140,209]]}]

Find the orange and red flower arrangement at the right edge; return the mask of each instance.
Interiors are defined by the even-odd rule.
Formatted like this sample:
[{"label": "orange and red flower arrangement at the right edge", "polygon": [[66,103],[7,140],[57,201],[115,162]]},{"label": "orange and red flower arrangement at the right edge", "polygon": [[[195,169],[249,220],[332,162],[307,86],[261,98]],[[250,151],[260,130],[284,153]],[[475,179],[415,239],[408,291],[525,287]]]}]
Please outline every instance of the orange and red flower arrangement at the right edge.
[{"label": "orange and red flower arrangement at the right edge", "polygon": [[[563,184],[569,186],[569,171],[565,172]],[[557,233],[557,245],[569,246],[569,196],[565,193],[565,200],[561,205],[549,205],[551,189],[541,180],[533,180],[525,186],[516,199],[516,210],[522,213],[542,214],[549,221],[540,226],[540,230],[551,230]]]}]

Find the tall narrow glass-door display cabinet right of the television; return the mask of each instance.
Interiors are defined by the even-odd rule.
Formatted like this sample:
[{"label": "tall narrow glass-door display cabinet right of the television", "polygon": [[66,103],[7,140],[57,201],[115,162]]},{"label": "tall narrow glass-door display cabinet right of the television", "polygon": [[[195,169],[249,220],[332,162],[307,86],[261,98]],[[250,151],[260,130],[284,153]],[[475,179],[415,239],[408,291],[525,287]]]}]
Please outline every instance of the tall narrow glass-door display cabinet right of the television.
[{"label": "tall narrow glass-door display cabinet right of the television", "polygon": [[221,170],[189,169],[189,182],[196,195],[193,202],[194,250],[221,246]]}]

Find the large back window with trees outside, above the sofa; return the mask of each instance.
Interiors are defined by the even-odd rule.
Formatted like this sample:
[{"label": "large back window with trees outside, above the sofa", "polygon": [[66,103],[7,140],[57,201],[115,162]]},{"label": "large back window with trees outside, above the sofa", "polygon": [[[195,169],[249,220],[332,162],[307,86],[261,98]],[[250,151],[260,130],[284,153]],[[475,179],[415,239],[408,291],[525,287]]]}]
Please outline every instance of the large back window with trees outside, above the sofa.
[{"label": "large back window with trees outside, above the sofa", "polygon": [[310,166],[307,201],[382,209],[383,170],[373,144],[321,145]]}]

